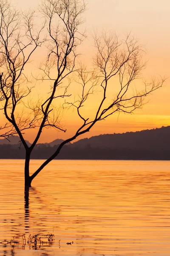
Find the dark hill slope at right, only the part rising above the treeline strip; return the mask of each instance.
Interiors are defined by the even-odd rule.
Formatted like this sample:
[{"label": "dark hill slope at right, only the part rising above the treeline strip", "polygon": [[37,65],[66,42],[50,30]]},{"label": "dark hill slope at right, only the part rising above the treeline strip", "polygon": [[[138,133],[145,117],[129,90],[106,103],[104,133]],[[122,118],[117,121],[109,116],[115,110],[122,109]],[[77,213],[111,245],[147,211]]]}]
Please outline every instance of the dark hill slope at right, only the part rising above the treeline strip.
[{"label": "dark hill slope at right, only the part rising above the treeline strip", "polygon": [[123,134],[103,134],[78,140],[73,145],[80,148],[170,149],[170,126]]}]

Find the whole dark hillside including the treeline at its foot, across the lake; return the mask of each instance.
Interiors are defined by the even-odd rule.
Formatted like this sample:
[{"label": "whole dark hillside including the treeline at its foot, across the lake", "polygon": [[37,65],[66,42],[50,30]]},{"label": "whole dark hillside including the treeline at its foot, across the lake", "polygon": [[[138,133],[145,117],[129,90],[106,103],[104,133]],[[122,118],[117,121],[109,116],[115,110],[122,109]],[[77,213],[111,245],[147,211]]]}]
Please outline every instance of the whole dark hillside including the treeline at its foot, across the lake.
[{"label": "whole dark hillside including the treeline at its foot, across the lake", "polygon": [[[37,144],[31,158],[48,158],[61,142]],[[0,158],[24,159],[23,145],[20,149],[19,144],[0,145]],[[57,159],[170,160],[170,126],[82,139],[65,145]]]}]

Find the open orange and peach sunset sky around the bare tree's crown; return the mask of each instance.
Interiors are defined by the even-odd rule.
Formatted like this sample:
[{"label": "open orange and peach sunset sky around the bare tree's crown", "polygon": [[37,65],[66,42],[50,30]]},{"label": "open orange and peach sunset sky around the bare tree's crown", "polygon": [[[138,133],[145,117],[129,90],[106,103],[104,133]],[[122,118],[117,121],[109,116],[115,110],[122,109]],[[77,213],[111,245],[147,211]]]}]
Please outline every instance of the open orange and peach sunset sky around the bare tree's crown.
[{"label": "open orange and peach sunset sky around the bare tree's crown", "polygon": [[[34,9],[37,0],[12,0],[18,8]],[[168,0],[89,0],[85,12],[87,35],[94,29],[113,30],[117,35],[131,32],[139,38],[147,49],[145,58],[147,67],[143,72],[144,77],[166,76],[164,86],[149,96],[149,102],[140,110],[129,114],[116,114],[106,121],[97,124],[91,132],[83,137],[99,134],[122,133],[126,131],[140,131],[170,125],[170,2]],[[91,37],[83,44],[85,60],[91,58]],[[67,132],[65,134],[52,130],[44,130],[39,142],[50,142],[56,138],[67,138],[77,127],[74,115],[70,120],[65,120]],[[26,139],[33,140],[34,131],[28,131]]]}]

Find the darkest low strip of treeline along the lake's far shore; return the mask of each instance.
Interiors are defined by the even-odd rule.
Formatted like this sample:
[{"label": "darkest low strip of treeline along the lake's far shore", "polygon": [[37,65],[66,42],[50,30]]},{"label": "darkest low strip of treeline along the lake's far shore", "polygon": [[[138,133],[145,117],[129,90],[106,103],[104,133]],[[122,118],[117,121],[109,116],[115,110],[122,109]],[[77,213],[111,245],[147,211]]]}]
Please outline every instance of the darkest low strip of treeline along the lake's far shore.
[{"label": "darkest low strip of treeline along the lake's far shore", "polygon": [[[18,145],[19,146],[19,145]],[[0,145],[1,159],[24,159],[24,148],[17,145]],[[32,159],[47,159],[54,153],[57,146],[37,145],[31,154]],[[67,145],[62,148],[57,159],[110,159],[110,160],[170,160],[170,151],[155,148],[148,149],[129,149],[129,148],[85,148]]]}]

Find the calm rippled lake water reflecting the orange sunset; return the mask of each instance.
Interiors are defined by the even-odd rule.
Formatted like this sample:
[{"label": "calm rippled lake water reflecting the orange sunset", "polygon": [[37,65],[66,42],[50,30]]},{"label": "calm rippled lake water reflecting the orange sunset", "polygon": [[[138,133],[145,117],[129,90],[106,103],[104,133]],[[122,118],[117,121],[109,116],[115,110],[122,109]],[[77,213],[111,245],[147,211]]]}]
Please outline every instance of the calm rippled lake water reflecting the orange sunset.
[{"label": "calm rippled lake water reflecting the orange sunset", "polygon": [[0,256],[170,256],[170,162],[53,160],[29,201],[23,166],[0,160]]}]

